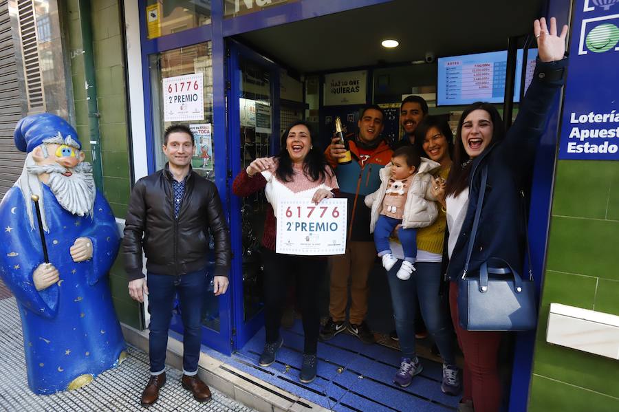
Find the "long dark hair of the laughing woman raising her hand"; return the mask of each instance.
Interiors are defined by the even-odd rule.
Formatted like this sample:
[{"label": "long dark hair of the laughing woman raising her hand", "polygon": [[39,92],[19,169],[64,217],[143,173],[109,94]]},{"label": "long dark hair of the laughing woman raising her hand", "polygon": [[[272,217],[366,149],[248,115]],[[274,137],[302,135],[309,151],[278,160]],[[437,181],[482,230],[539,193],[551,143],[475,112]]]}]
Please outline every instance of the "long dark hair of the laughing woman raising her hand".
[{"label": "long dark hair of the laughing woman raising her hand", "polygon": [[505,136],[503,119],[501,119],[501,115],[496,107],[487,102],[475,102],[466,107],[462,112],[460,120],[458,120],[458,129],[456,131],[453,150],[453,166],[451,166],[451,171],[447,177],[446,195],[457,196],[468,187],[468,176],[470,175],[473,162],[469,162],[470,156],[466,153],[464,144],[462,143],[462,123],[464,123],[466,116],[478,109],[488,112],[490,120],[492,121],[492,139],[488,142],[488,146],[486,146],[484,151],[488,150],[488,147],[492,144],[503,140]]}]

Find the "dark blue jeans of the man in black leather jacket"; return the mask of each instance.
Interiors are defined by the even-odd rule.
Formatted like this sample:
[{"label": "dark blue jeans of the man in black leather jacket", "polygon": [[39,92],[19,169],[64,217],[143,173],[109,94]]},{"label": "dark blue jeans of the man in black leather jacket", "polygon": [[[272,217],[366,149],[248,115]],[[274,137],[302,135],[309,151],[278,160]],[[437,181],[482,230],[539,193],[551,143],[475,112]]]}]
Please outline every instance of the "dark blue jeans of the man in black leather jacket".
[{"label": "dark blue jeans of the man in black leather jacket", "polygon": [[155,274],[148,272],[146,285],[149,288],[149,358],[151,373],[157,375],[164,371],[168,329],[172,319],[174,297],[178,293],[181,318],[183,321],[183,372],[187,375],[197,373],[200,357],[202,325],[200,315],[206,287],[206,268],[182,276]]}]

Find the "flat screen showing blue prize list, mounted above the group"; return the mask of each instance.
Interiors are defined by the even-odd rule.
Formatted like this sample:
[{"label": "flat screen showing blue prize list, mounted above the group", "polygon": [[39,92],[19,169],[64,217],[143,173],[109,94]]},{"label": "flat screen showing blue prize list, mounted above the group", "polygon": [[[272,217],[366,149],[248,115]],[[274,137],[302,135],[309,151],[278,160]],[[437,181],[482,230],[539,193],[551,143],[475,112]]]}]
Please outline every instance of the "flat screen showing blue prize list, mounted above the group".
[{"label": "flat screen showing blue prize list, mounted above the group", "polygon": [[[535,69],[537,49],[527,52],[525,91]],[[523,50],[517,52],[514,102],[520,101]],[[505,98],[507,51],[439,57],[437,106],[469,105],[483,101],[502,103]]]}]

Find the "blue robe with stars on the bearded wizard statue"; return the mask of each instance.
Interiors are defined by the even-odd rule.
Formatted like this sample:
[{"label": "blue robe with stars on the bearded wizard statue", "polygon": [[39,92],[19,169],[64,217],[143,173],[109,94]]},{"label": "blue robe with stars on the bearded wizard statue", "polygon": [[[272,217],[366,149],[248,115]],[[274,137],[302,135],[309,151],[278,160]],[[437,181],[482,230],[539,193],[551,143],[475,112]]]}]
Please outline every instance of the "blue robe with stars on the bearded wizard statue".
[{"label": "blue robe with stars on the bearded wizard statue", "polygon": [[[32,281],[44,263],[36,217],[32,228],[17,186],[0,204],[0,275],[19,306],[28,385],[41,395],[65,391],[80,375],[97,376],[116,366],[126,349],[107,282],[120,243],[109,204],[97,193],[93,217],[72,215],[42,186],[47,252],[60,273],[60,281],[45,290],[37,291]],[[91,259],[80,263],[69,252],[78,237],[88,237],[93,250]]]}]

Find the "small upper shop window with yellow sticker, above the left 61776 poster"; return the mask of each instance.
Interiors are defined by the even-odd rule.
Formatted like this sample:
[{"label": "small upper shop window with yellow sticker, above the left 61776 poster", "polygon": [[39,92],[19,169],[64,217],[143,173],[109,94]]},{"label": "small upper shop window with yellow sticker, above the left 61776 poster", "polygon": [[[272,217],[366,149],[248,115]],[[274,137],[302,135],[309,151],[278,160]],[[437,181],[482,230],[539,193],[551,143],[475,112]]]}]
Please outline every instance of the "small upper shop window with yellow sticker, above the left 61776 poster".
[{"label": "small upper shop window with yellow sticker, above the left 61776 poster", "polygon": [[210,24],[210,0],[148,0],[149,39]]}]

